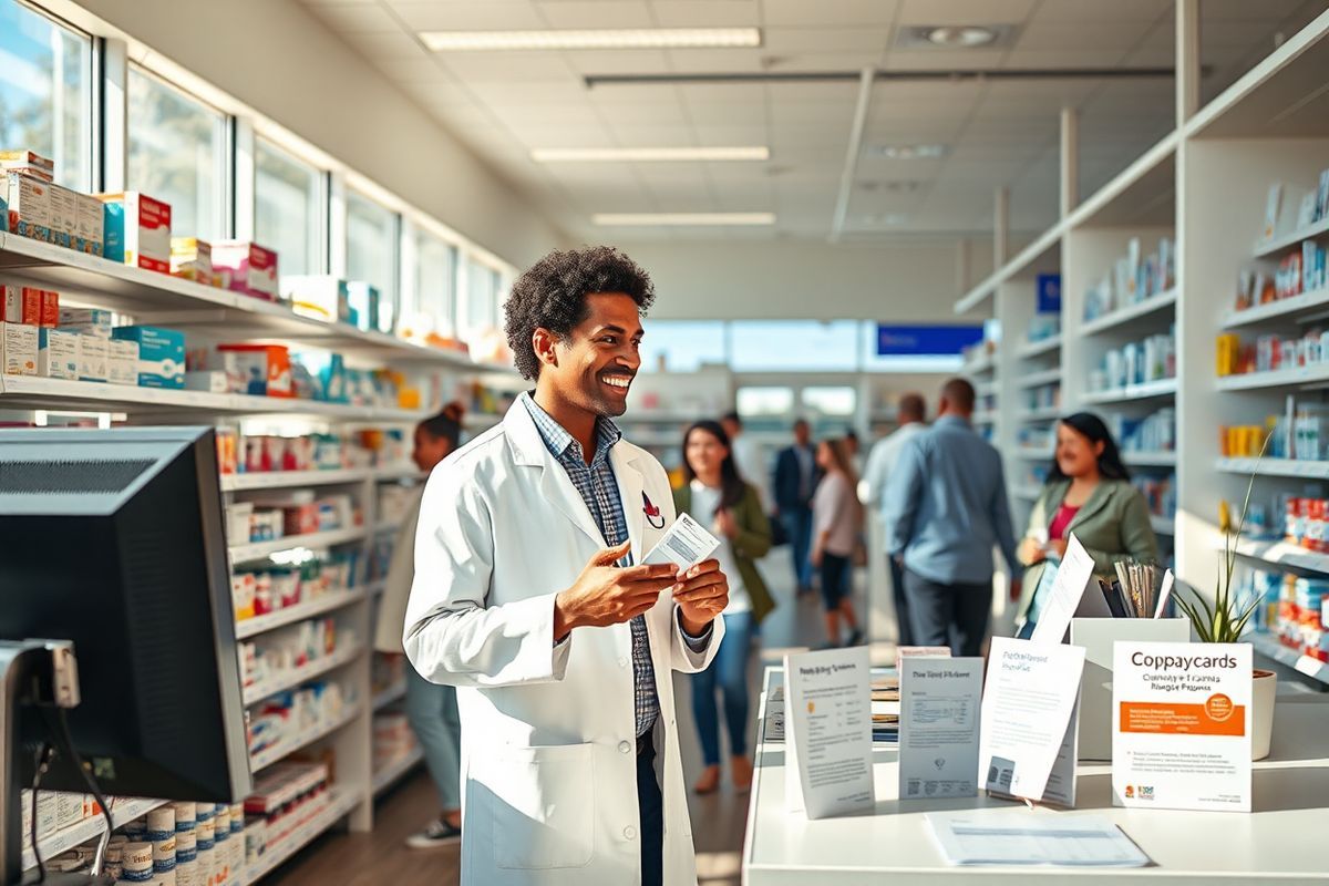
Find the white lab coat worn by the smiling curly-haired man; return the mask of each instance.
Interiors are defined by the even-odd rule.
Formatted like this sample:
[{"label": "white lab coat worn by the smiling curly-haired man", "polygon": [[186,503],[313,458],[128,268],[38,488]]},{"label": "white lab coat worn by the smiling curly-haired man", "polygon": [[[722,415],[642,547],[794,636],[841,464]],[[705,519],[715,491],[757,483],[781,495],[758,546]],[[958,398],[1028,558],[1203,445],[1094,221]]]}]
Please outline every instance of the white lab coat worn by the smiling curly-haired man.
[{"label": "white lab coat worn by the smiling curly-haired man", "polygon": [[[610,458],[639,561],[674,519],[668,480],[627,441]],[[643,493],[663,521],[646,519]],[[631,628],[578,628],[557,648],[553,634],[554,595],[603,547],[520,402],[425,486],[404,646],[421,675],[459,687],[462,886],[641,882]],[[670,673],[707,667],[724,626],[694,652],[675,610],[661,594],[646,620],[664,882],[682,886],[696,867]]]}]

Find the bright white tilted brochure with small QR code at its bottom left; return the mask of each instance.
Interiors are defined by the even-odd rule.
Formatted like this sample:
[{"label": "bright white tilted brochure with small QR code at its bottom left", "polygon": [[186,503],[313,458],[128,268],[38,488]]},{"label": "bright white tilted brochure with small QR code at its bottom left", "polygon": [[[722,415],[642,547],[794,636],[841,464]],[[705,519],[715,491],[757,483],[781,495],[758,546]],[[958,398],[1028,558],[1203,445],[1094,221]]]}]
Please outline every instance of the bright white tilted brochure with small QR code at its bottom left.
[{"label": "bright white tilted brochure with small QR code at its bottom left", "polygon": [[[983,688],[978,777],[983,790],[1043,800],[1049,776],[1066,757],[1074,784],[1073,715],[1084,650],[995,636]],[[1058,802],[1065,800],[1058,798]]]}]

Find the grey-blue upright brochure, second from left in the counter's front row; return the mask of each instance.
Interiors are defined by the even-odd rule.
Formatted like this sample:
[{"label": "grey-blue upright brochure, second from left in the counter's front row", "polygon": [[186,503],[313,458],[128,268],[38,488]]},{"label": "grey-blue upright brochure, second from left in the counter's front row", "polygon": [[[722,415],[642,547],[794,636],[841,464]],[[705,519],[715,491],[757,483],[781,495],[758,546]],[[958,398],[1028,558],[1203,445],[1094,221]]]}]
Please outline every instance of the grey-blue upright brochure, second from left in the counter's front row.
[{"label": "grey-blue upright brochure, second from left in the counter's front row", "polygon": [[900,669],[900,798],[978,796],[983,660],[906,658]]}]

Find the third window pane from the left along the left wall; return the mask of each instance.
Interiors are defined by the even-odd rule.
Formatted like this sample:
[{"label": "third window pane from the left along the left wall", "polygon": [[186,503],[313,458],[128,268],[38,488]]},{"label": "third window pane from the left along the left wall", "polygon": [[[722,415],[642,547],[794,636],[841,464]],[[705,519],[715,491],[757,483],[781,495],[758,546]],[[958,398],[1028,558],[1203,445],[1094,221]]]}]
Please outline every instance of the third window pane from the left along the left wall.
[{"label": "third window pane from the left along the left wall", "polygon": [[323,173],[275,145],[254,145],[254,239],[276,251],[282,274],[323,271]]}]

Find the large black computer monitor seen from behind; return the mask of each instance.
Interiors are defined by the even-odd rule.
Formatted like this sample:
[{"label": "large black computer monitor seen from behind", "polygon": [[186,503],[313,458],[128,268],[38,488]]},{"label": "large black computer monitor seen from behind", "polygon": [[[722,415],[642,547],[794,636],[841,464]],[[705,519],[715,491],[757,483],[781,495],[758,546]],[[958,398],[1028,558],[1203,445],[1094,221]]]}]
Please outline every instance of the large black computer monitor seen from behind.
[{"label": "large black computer monitor seen from behind", "polygon": [[[0,640],[33,638],[73,642],[69,731],[105,794],[250,793],[210,428],[0,430]],[[86,793],[68,758],[41,786]]]}]

